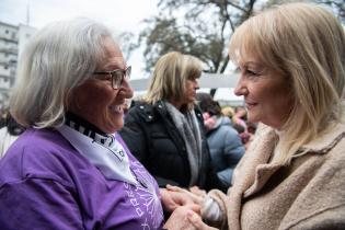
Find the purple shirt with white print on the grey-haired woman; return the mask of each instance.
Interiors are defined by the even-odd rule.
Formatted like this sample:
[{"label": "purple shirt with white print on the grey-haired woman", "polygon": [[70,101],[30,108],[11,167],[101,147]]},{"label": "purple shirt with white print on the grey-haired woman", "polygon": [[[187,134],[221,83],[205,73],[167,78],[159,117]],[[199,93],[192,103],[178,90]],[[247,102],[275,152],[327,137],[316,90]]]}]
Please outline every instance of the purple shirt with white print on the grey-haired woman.
[{"label": "purple shirt with white print on the grey-haired woman", "polygon": [[161,229],[154,179],[123,140],[137,186],[106,180],[54,129],[27,129],[0,161],[1,229]]}]

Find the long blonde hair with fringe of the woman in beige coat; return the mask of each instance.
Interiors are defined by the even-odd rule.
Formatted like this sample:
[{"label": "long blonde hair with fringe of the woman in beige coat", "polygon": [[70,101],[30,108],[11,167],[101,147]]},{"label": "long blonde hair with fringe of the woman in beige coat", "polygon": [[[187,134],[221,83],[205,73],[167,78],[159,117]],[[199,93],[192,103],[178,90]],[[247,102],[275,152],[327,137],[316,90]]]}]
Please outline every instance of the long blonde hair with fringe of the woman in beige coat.
[{"label": "long blonde hair with fringe of the woman in beige coat", "polygon": [[289,81],[295,104],[273,159],[288,164],[302,145],[342,117],[344,28],[319,5],[283,4],[249,19],[232,35],[230,58],[249,56]]}]

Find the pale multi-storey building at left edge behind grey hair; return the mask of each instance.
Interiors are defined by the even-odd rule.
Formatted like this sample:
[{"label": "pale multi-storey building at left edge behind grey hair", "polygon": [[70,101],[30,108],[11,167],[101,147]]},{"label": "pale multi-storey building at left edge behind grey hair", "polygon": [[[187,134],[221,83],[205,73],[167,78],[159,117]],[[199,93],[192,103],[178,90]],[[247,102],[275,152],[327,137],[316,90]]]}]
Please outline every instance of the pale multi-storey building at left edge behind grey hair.
[{"label": "pale multi-storey building at left edge behind grey hair", "polygon": [[36,28],[0,22],[0,113],[8,105],[10,89],[15,81],[16,64],[23,47]]}]

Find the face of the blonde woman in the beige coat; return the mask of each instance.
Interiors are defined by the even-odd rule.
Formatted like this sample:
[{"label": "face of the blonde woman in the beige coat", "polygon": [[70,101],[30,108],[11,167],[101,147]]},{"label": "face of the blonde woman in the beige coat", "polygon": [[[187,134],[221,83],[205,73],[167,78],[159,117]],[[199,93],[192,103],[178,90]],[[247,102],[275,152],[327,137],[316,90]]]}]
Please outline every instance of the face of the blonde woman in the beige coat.
[{"label": "face of the blonde woman in the beige coat", "polygon": [[294,102],[287,77],[255,59],[241,60],[239,67],[241,76],[234,93],[244,96],[249,122],[280,129]]}]

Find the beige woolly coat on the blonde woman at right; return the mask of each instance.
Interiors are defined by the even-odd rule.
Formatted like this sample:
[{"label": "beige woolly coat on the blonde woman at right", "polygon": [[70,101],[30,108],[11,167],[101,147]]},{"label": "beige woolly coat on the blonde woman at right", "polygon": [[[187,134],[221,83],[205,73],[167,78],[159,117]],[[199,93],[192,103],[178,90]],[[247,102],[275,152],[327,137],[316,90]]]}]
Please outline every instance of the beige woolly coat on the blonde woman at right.
[{"label": "beige woolly coat on the blonde woman at right", "polygon": [[277,134],[264,126],[229,195],[210,192],[227,215],[223,229],[345,229],[345,124],[325,133],[281,166],[267,163]]}]

